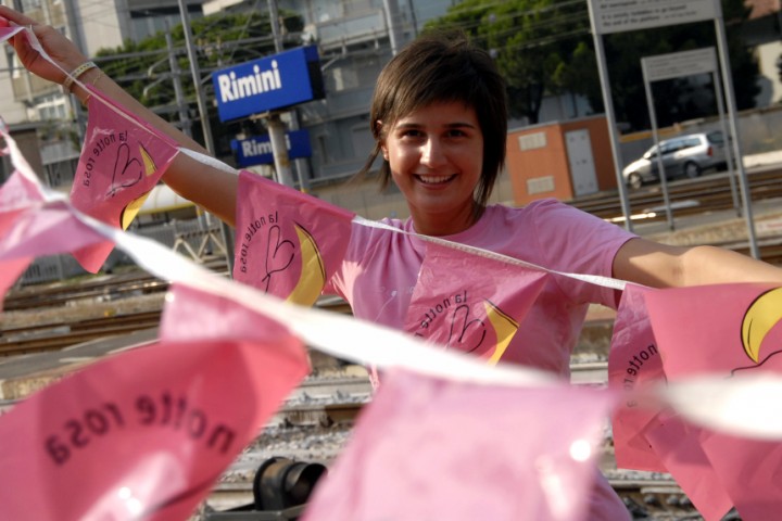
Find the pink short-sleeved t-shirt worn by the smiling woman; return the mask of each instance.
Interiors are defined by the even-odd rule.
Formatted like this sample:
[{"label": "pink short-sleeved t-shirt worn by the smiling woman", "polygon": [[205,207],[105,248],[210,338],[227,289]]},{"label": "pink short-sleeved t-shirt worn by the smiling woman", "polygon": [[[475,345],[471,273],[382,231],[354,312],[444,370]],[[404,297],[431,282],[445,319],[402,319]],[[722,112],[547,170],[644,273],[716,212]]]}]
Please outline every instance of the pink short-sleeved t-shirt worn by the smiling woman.
[{"label": "pink short-sleeved t-shirt worn by the smiling woman", "polygon": [[[412,220],[383,223],[415,232]],[[633,237],[616,225],[547,199],[521,208],[489,206],[468,230],[443,239],[560,272],[610,277],[617,251]],[[353,224],[344,263],[324,292],[342,296],[358,318],[402,330],[425,252],[426,243],[415,237]],[[589,305],[616,308],[617,300],[614,290],[569,277],[552,277],[502,361],[569,378],[570,354]],[[605,478],[595,472],[586,519],[629,520],[625,505]]]}]

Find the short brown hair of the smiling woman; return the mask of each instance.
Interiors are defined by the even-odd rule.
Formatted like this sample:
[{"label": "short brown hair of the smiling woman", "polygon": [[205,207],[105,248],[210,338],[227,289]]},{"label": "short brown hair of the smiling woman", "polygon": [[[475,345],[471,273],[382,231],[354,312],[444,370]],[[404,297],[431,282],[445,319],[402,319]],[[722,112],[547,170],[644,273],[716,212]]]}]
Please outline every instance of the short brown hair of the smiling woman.
[{"label": "short brown hair of the smiling woman", "polygon": [[[424,34],[396,54],[378,77],[369,116],[375,149],[362,174],[381,153],[382,127],[390,128],[401,117],[432,103],[459,101],[476,111],[483,134],[483,165],[475,199],[480,207],[485,206],[505,164],[506,96],[505,80],[494,61],[472,46],[465,33],[450,29]],[[391,181],[388,161],[380,167],[380,180],[383,188]]]}]

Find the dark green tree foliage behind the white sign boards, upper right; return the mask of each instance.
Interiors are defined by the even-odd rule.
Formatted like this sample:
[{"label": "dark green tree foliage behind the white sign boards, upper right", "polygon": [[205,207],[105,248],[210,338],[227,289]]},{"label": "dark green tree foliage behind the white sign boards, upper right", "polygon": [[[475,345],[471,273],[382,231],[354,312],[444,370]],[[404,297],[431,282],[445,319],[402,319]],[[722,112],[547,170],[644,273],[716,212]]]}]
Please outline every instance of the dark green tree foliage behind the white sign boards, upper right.
[{"label": "dark green tree foliage behind the white sign boards, upper right", "polygon": [[[754,106],[759,92],[752,49],[740,40],[749,10],[743,0],[722,0],[729,60],[739,110]],[[585,0],[465,0],[428,28],[459,27],[495,56],[508,82],[510,116],[538,123],[543,96],[583,96],[603,112],[594,40]],[[617,119],[633,129],[649,128],[641,59],[705,47],[717,48],[715,24],[667,26],[604,35],[603,42]],[[659,125],[717,113],[710,78],[678,78],[653,84]]]}]

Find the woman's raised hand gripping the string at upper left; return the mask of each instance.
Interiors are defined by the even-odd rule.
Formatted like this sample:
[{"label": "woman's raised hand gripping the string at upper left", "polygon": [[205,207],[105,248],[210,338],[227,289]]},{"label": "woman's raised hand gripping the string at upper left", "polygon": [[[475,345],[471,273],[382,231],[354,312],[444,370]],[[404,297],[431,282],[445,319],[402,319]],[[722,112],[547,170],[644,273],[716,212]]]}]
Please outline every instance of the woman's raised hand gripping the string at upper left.
[{"label": "woman's raised hand gripping the string at upper left", "polygon": [[49,58],[62,67],[62,69],[60,69],[43,59],[43,56],[30,46],[27,34],[20,33],[12,38],[11,42],[22,65],[36,76],[62,85],[67,76],[65,72],[70,73],[87,61],[87,56],[85,56],[71,40],[53,27],[41,25],[29,16],[25,16],[5,5],[0,5],[0,17],[16,25],[30,27],[43,50],[49,54]]}]

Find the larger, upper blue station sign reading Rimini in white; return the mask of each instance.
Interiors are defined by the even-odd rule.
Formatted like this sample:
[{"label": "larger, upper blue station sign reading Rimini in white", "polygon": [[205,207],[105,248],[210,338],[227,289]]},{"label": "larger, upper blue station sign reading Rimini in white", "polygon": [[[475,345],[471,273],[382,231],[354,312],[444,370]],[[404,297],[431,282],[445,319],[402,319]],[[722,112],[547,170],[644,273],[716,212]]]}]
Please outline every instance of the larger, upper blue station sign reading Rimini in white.
[{"label": "larger, upper blue station sign reading Rimini in white", "polygon": [[285,109],[326,96],[315,46],[253,60],[212,75],[220,122]]}]

